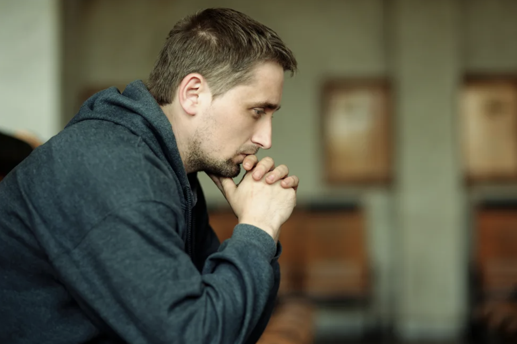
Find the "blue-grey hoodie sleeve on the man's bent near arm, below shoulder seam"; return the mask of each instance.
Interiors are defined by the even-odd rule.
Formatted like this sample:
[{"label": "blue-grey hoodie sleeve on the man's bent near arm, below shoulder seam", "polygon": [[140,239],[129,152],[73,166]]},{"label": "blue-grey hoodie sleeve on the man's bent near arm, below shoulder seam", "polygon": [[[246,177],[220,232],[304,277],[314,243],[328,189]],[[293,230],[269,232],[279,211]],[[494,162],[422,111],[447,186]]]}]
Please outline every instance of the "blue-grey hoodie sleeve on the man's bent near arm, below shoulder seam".
[{"label": "blue-grey hoodie sleeve on the man's bent near arm, below shoulder seam", "polygon": [[246,342],[275,288],[275,242],[237,225],[200,273],[178,214],[153,201],[119,207],[55,259],[60,279],[128,343]]}]

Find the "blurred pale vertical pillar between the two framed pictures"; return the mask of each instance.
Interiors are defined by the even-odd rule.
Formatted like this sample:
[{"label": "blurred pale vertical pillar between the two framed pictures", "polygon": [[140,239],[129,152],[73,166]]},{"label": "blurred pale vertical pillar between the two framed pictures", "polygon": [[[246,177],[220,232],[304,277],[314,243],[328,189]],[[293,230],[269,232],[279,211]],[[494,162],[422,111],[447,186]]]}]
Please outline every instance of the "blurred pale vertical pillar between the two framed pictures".
[{"label": "blurred pale vertical pillar between the two framed pictures", "polygon": [[[461,66],[457,2],[398,0],[398,325],[406,337],[454,337],[465,317],[464,195],[455,105]],[[438,338],[437,338],[438,339]]]}]

